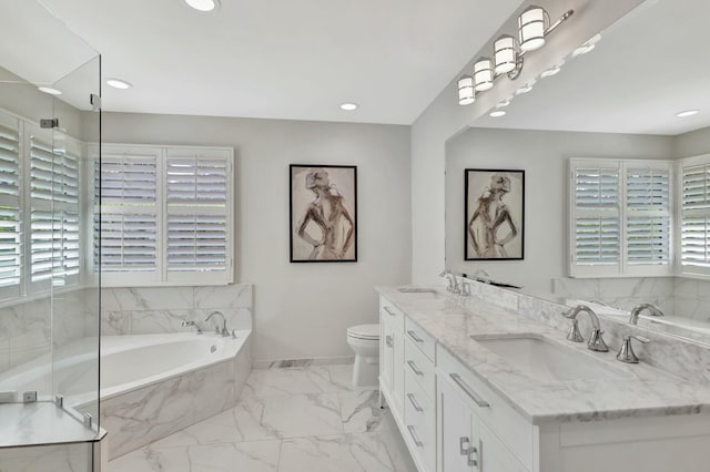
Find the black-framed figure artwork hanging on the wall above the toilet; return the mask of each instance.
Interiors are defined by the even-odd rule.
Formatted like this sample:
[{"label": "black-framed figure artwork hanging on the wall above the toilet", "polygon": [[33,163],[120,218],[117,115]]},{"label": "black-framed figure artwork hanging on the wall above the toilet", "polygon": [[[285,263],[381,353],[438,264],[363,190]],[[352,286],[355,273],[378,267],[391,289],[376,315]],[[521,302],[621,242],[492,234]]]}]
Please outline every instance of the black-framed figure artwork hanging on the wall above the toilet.
[{"label": "black-framed figure artwork hanging on the wall above the toilet", "polygon": [[357,261],[357,167],[291,164],[291,261]]}]

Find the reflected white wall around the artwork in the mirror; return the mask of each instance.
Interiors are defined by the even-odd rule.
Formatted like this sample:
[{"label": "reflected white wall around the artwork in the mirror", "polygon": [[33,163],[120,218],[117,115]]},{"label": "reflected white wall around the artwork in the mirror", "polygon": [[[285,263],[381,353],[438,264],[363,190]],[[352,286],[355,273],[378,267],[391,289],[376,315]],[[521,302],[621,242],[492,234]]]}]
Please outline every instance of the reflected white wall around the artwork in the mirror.
[{"label": "reflected white wall around the artwork in the mirror", "polygon": [[[469,129],[447,146],[446,265],[471,275],[483,268],[491,278],[552,291],[551,279],[567,275],[569,157],[673,157],[673,137]],[[525,259],[464,260],[464,170],[525,171]]]}]

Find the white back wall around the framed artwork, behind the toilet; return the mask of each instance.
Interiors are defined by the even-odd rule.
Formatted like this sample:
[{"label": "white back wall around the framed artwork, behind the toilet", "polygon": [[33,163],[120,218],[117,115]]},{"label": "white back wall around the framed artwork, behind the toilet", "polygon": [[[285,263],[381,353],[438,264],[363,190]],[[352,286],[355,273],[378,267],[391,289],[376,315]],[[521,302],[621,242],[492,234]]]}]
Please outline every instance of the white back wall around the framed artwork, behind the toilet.
[{"label": "white back wall around the framed artwork, behind the toilet", "polygon": [[[236,280],[255,287],[255,360],[351,356],[346,328],[377,320],[374,287],[409,281],[408,126],[104,113],[103,142],[235,148]],[[288,263],[291,163],[358,166],[358,263]]]}]

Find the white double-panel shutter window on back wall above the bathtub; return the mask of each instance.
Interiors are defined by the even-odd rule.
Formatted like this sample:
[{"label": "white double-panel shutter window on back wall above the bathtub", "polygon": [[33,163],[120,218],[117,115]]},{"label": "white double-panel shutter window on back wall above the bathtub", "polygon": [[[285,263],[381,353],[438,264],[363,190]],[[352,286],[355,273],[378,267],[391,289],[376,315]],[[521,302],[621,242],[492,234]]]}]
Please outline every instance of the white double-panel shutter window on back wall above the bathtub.
[{"label": "white double-panel shutter window on back wall above the bathtub", "polygon": [[231,283],[232,154],[212,147],[104,146],[95,184],[102,281]]}]

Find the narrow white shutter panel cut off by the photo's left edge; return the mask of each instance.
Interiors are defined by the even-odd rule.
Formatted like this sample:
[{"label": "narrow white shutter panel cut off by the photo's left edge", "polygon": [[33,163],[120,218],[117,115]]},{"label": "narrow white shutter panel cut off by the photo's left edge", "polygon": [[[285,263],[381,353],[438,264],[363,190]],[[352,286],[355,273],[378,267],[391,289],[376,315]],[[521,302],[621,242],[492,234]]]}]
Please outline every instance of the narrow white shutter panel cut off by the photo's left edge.
[{"label": "narrow white shutter panel cut off by the photo's left edge", "polygon": [[20,295],[20,122],[0,114],[0,298]]}]

